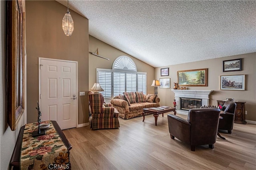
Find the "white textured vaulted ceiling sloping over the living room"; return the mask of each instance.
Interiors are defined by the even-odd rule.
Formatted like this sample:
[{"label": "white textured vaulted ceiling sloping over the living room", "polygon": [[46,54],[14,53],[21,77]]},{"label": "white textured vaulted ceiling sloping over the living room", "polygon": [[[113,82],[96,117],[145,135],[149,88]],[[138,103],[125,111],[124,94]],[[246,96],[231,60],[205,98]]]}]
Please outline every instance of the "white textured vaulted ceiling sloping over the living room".
[{"label": "white textured vaulted ceiling sloping over the living room", "polygon": [[70,0],[69,7],[88,18],[90,35],[154,67],[256,52],[256,1]]}]

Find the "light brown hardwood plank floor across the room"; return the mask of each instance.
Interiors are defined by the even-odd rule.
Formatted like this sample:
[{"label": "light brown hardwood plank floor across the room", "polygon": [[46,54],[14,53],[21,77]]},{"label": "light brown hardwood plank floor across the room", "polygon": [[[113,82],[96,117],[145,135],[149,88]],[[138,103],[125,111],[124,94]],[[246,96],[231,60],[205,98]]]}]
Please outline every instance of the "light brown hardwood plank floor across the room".
[{"label": "light brown hardwood plank floor across the room", "polygon": [[[173,112],[171,112],[173,114]],[[256,169],[256,125],[234,123],[232,134],[221,133],[214,149],[190,146],[171,139],[168,113],[124,120],[119,129],[93,131],[90,126],[64,130],[72,145],[72,170],[107,169]],[[187,115],[178,116],[187,118]]]}]

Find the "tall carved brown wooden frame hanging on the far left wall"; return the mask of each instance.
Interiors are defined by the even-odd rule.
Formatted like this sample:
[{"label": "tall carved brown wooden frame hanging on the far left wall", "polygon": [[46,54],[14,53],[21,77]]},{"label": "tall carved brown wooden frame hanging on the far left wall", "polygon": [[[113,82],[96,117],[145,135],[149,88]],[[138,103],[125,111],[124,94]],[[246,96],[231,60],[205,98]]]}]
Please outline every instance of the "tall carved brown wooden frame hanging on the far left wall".
[{"label": "tall carved brown wooden frame hanging on the far left wall", "polygon": [[24,112],[24,26],[25,5],[23,0],[7,3],[7,122],[12,131]]}]

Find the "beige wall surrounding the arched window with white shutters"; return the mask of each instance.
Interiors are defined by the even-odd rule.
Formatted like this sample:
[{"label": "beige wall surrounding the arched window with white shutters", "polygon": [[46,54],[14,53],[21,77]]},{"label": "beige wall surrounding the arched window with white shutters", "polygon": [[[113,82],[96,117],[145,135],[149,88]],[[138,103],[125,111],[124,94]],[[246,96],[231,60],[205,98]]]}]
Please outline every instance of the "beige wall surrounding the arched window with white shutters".
[{"label": "beige wall surrounding the arched window with white shutters", "polygon": [[122,55],[126,55],[130,57],[136,64],[137,72],[147,72],[147,93],[154,94],[154,87],[151,86],[152,81],[154,80],[154,67],[89,35],[89,51],[94,53],[97,48],[100,56],[110,60],[108,61],[89,54],[89,88],[91,88],[96,82],[96,68],[112,69],[115,59]]}]

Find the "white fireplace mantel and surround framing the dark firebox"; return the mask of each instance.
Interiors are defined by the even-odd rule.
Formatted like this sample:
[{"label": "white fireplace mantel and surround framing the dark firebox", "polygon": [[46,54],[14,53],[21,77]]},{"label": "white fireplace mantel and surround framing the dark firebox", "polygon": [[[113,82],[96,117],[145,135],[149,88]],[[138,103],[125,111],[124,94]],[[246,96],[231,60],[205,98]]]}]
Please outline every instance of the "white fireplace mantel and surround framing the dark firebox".
[{"label": "white fireplace mantel and surround framing the dark firebox", "polygon": [[[176,109],[177,112],[179,113],[184,111],[180,110],[180,98],[191,98],[191,99],[202,99],[202,106],[208,106],[209,105],[209,96],[213,92],[213,90],[174,90],[174,97],[176,100]],[[188,111],[185,111],[185,114],[188,114]]]}]

